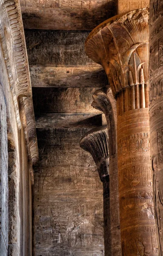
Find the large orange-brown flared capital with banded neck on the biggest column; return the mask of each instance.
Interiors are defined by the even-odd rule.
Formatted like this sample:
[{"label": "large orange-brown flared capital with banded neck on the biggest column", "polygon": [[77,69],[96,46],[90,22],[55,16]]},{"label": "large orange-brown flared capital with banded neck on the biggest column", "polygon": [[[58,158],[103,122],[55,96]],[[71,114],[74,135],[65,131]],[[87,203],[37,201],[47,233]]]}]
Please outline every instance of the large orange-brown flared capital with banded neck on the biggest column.
[{"label": "large orange-brown flared capital with banded neck on the biggest column", "polygon": [[148,8],[134,10],[106,20],[86,40],[87,55],[109,78],[117,115],[148,107],[148,22]]}]

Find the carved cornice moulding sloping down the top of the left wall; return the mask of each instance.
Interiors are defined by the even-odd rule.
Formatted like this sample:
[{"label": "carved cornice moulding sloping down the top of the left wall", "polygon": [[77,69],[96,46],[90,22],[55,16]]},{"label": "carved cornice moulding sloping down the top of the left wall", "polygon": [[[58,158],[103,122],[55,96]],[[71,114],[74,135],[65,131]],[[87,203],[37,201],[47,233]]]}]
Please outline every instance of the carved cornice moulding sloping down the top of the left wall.
[{"label": "carved cornice moulding sloping down the top of the left wall", "polygon": [[[1,63],[5,64],[8,73],[17,128],[21,129],[23,124],[30,173],[33,173],[32,165],[38,163],[37,136],[26,42],[18,0],[0,0],[0,46],[4,57]],[[32,177],[31,180],[33,182]]]}]

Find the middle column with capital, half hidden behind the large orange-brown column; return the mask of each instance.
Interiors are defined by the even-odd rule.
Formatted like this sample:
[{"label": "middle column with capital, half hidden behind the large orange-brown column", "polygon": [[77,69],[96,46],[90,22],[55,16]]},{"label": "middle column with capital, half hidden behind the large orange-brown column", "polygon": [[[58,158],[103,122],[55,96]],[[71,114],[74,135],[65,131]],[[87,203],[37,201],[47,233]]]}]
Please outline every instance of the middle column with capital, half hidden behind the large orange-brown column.
[{"label": "middle column with capital, half hidden behind the large orange-brown column", "polygon": [[109,133],[109,185],[111,214],[111,255],[121,256],[117,167],[117,108],[112,90],[103,87],[93,94],[92,106],[106,116]]}]

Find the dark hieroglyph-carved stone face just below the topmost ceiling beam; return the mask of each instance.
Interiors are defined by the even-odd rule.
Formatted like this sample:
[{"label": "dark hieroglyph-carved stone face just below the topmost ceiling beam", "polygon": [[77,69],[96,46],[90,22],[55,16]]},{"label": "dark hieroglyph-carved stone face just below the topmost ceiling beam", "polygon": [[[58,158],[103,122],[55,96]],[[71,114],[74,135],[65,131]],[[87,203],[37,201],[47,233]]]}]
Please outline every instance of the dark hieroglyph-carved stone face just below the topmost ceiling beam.
[{"label": "dark hieroglyph-carved stone face just below the topmost ceiling beam", "polygon": [[27,30],[29,65],[92,65],[84,50],[88,32]]}]

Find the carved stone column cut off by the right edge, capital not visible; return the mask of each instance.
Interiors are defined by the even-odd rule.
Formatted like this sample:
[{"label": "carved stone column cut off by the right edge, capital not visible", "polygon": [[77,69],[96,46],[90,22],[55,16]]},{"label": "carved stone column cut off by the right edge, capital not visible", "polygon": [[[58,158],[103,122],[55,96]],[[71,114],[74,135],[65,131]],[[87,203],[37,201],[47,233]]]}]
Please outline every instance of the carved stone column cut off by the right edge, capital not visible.
[{"label": "carved stone column cut off by the right edge, capital not visible", "polygon": [[163,255],[163,5],[150,1],[149,121],[157,241]]}]

